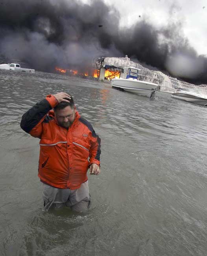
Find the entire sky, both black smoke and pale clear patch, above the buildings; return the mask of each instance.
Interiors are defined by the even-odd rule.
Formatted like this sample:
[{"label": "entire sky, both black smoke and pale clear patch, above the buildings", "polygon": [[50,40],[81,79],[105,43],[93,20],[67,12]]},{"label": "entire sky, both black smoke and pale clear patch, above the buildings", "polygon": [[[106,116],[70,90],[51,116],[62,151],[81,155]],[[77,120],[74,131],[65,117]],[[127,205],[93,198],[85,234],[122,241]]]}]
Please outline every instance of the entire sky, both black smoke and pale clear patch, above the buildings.
[{"label": "entire sky, both black smoke and pale clear patch, above the buildings", "polygon": [[128,57],[207,84],[207,0],[0,0],[0,57],[31,68]]}]

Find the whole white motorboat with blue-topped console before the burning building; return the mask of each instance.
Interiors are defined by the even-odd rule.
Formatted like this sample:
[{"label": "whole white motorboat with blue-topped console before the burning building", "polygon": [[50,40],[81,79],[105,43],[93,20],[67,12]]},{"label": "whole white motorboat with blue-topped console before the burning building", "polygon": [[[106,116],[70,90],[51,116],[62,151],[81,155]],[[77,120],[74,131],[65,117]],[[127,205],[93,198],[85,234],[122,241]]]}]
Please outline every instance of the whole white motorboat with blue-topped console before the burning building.
[{"label": "whole white motorboat with blue-topped console before the burning building", "polygon": [[124,91],[137,93],[139,95],[152,97],[155,93],[157,84],[137,80],[139,70],[140,69],[136,69],[134,67],[124,68],[124,78],[120,77],[111,79],[112,87],[117,87]]}]

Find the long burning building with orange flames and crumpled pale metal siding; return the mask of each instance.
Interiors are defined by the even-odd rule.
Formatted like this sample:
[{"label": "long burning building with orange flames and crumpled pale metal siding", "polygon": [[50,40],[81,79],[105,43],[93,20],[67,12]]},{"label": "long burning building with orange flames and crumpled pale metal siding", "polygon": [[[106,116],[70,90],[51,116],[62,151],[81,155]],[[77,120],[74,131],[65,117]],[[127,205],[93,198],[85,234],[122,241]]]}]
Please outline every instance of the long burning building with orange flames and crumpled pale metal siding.
[{"label": "long burning building with orange flames and crumpled pale metal siding", "polygon": [[112,78],[125,78],[124,68],[135,67],[139,70],[138,80],[156,83],[161,91],[174,92],[175,88],[193,89],[197,93],[207,94],[207,85],[194,85],[177,78],[167,76],[161,71],[150,70],[141,64],[131,61],[126,55],[124,58],[99,57],[92,61],[87,67],[76,67],[76,69],[62,69],[55,67],[56,72],[69,76],[79,76],[94,80],[111,80]]}]

